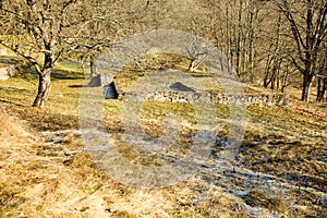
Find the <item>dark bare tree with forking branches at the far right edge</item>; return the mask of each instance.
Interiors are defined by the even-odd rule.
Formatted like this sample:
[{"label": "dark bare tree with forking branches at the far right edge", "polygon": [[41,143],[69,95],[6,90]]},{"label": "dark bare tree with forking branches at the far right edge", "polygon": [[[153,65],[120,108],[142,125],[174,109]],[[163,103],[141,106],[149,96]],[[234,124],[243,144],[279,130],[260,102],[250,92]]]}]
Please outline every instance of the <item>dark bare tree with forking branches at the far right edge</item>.
[{"label": "dark bare tree with forking branches at the far right edge", "polygon": [[302,73],[301,100],[310,101],[311,86],[318,73],[320,52],[327,35],[327,2],[325,0],[274,1],[289,23],[294,50],[289,59]]}]

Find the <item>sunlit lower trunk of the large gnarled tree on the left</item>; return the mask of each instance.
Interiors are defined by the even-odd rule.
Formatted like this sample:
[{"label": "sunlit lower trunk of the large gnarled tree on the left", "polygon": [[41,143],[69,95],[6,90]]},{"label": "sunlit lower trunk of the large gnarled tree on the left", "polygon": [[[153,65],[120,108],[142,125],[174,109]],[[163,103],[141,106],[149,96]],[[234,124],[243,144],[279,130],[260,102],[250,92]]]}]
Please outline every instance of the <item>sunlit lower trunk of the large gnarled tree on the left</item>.
[{"label": "sunlit lower trunk of the large gnarled tree on the left", "polygon": [[44,108],[51,87],[51,70],[46,69],[43,73],[38,74],[38,89],[33,107]]}]

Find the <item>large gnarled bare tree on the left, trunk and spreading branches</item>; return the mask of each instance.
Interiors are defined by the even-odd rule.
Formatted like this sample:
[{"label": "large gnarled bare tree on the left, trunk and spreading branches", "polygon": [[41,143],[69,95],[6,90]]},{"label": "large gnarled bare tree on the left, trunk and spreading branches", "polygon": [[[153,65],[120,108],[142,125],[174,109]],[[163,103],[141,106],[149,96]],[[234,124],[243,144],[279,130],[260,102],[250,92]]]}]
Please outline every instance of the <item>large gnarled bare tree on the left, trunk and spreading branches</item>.
[{"label": "large gnarled bare tree on the left, trunk and spreading branches", "polygon": [[35,68],[38,90],[34,107],[45,106],[51,87],[51,71],[58,60],[94,39],[86,37],[89,33],[87,27],[92,22],[104,19],[94,10],[94,2],[1,0],[0,44]]}]

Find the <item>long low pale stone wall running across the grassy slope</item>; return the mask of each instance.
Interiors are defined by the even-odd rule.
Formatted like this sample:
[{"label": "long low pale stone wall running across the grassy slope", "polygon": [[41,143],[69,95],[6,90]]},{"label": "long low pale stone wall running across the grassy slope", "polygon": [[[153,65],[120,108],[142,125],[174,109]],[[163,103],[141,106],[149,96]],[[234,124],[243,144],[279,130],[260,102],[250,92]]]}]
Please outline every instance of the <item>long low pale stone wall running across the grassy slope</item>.
[{"label": "long low pale stone wall running across the grassy slope", "polygon": [[284,106],[287,96],[283,94],[251,94],[251,95],[226,95],[193,92],[154,92],[154,93],[123,93],[122,98],[131,101],[170,101],[170,102],[205,102],[221,105],[251,105]]}]

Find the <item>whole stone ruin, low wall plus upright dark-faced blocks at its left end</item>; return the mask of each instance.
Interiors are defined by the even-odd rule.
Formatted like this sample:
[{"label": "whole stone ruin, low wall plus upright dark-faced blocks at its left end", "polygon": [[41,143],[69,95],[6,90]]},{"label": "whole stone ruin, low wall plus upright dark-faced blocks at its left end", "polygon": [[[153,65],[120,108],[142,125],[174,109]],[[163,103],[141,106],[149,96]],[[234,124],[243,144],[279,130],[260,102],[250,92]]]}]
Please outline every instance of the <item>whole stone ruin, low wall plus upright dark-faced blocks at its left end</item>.
[{"label": "whole stone ruin, low wall plus upright dark-faced blocks at its left end", "polygon": [[[113,83],[112,74],[98,74],[94,76],[88,87],[104,87],[106,99],[118,99],[118,92]],[[167,90],[156,92],[128,92],[121,98],[129,101],[169,101],[169,102],[204,102],[220,105],[263,105],[263,106],[286,106],[288,97],[284,94],[244,94],[228,95],[209,92],[197,92],[181,82],[169,85]]]}]

